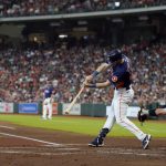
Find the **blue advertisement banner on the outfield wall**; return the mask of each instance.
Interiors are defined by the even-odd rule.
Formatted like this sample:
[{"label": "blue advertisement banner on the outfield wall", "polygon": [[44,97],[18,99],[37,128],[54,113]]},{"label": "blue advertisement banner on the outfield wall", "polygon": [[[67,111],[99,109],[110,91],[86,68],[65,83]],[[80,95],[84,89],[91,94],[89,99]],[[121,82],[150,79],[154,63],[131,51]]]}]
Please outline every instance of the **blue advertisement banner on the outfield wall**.
[{"label": "blue advertisement banner on the outfield wall", "polygon": [[21,103],[21,104],[19,104],[19,113],[38,114],[38,103]]}]

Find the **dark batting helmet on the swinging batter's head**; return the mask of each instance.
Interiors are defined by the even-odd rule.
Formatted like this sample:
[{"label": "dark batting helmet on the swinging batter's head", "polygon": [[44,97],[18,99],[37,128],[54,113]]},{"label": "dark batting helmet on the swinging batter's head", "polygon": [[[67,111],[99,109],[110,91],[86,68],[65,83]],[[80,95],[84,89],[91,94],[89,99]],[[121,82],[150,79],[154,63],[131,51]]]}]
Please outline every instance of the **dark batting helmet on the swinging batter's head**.
[{"label": "dark batting helmet on the swinging batter's head", "polygon": [[118,49],[112,50],[106,54],[106,59],[108,63],[113,63],[117,60],[122,59],[122,52]]}]

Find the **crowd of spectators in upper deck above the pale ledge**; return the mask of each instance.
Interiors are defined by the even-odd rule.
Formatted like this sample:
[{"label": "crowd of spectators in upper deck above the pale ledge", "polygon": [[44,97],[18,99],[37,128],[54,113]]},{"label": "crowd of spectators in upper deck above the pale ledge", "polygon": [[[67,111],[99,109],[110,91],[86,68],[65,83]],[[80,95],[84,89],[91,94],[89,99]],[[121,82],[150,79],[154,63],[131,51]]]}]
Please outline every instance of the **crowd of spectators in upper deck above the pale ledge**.
[{"label": "crowd of spectators in upper deck above the pale ledge", "polygon": [[165,0],[0,0],[0,17],[91,12],[165,4]]}]

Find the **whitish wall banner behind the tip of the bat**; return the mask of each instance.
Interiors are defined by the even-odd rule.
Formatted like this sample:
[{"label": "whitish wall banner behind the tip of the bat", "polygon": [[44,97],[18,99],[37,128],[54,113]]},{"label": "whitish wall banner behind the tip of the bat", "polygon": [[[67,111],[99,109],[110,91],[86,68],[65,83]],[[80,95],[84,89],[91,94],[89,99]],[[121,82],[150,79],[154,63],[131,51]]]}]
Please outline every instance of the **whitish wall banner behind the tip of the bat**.
[{"label": "whitish wall banner behind the tip of the bat", "polygon": [[[68,108],[68,106],[70,105],[70,103],[64,103],[62,105],[62,114],[64,115],[65,110]],[[74,104],[72,110],[69,113],[70,115],[81,115],[81,104]]]}]

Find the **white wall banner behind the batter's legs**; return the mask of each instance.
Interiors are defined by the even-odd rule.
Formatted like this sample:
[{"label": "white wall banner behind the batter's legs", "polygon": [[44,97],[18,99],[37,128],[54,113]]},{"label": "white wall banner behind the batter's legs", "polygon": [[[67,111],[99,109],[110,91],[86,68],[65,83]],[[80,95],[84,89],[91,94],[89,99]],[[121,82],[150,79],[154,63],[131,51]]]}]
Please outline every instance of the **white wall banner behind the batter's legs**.
[{"label": "white wall banner behind the batter's legs", "polygon": [[[137,117],[137,113],[141,110],[139,106],[128,106],[127,117]],[[106,115],[111,113],[111,106],[106,106]]]}]

